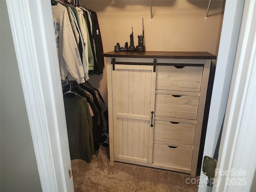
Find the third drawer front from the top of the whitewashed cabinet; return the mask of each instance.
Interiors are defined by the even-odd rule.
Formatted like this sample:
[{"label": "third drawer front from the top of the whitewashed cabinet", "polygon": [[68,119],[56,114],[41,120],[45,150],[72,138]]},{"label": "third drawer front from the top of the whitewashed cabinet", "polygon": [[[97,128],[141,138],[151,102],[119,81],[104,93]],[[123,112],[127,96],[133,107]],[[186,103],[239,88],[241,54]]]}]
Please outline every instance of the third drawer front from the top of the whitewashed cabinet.
[{"label": "third drawer front from the top of the whitewashed cabinet", "polygon": [[155,120],[154,140],[193,145],[195,129],[195,124]]}]

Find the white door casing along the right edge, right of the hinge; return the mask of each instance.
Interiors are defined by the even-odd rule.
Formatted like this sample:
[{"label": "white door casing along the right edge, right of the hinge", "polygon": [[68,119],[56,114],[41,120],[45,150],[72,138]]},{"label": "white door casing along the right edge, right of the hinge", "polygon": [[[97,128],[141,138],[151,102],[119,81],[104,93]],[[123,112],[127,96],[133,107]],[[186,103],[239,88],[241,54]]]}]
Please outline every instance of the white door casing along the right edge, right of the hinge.
[{"label": "white door casing along the right edge, right of the hinge", "polygon": [[253,191],[256,170],[255,21],[256,1],[246,0],[213,191]]}]

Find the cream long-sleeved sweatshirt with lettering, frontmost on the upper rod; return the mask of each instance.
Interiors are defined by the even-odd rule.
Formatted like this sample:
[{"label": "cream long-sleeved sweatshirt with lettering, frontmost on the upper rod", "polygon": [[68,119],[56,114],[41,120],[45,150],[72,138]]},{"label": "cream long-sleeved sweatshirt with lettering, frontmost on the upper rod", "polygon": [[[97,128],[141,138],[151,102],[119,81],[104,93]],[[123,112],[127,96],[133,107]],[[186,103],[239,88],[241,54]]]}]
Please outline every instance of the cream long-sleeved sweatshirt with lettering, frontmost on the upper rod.
[{"label": "cream long-sleeved sweatshirt with lettering, frontmost on the upper rod", "polygon": [[63,5],[58,3],[57,5],[52,5],[52,16],[61,79],[65,80],[69,73],[78,84],[84,83],[84,68],[70,24],[68,12]]}]

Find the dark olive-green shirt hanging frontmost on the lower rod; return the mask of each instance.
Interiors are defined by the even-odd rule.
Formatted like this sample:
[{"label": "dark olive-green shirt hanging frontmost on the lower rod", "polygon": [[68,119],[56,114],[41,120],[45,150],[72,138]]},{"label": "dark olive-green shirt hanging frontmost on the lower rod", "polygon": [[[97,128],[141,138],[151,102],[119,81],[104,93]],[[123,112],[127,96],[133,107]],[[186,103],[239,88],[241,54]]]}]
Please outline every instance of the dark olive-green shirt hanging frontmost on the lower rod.
[{"label": "dark olive-green shirt hanging frontmost on the lower rod", "polygon": [[86,98],[75,96],[64,99],[68,143],[71,159],[82,159],[90,163],[94,153],[92,117]]}]

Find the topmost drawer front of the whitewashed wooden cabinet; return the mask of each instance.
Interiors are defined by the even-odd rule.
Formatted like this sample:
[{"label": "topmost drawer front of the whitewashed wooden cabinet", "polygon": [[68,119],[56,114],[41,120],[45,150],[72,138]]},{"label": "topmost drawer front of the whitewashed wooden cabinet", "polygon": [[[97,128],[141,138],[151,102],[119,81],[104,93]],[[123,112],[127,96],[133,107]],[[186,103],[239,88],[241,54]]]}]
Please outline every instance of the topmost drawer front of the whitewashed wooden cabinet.
[{"label": "topmost drawer front of the whitewashed wooden cabinet", "polygon": [[200,92],[202,66],[157,66],[156,89]]}]

